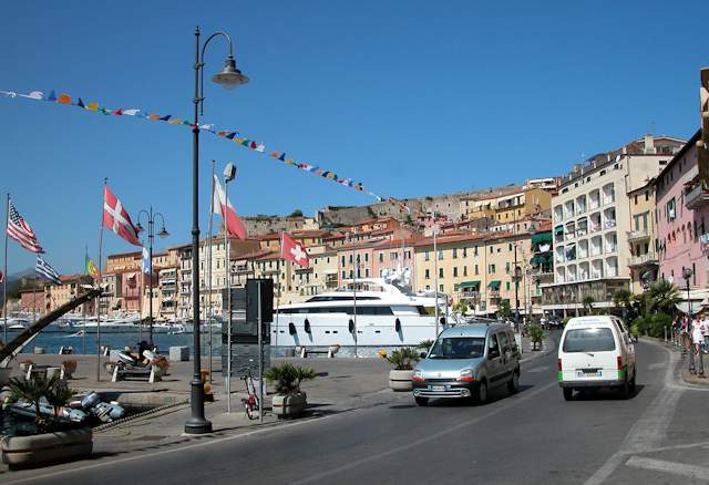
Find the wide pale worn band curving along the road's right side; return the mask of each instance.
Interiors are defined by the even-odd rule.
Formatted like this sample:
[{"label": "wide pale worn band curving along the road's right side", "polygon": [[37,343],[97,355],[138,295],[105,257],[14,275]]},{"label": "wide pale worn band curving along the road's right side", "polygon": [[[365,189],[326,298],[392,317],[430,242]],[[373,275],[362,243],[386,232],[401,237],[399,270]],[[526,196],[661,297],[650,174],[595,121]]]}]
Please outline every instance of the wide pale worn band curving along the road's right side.
[{"label": "wide pale worn band curving along the road's right side", "polygon": [[679,358],[676,353],[670,352],[664,347],[657,347],[664,349],[669,354],[662,389],[659,390],[659,393],[647,406],[640,419],[630,427],[625,440],[620,446],[618,446],[618,451],[614,453],[584,485],[600,485],[623,464],[627,455],[645,453],[648,450],[658,447],[665,438],[667,429],[675,415],[675,407],[685,389],[675,385],[672,382],[675,368],[677,367]]}]

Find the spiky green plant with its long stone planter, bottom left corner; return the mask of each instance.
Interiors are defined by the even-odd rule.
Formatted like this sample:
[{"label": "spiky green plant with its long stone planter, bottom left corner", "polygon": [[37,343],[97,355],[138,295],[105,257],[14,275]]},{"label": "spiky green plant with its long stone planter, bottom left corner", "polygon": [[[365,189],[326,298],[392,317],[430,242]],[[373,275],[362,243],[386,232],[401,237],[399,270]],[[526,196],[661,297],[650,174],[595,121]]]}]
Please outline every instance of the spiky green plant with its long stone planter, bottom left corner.
[{"label": "spiky green plant with its long stone planter, bottom left corner", "polygon": [[[34,409],[35,433],[4,436],[0,442],[2,462],[10,468],[34,466],[45,462],[62,462],[88,455],[93,448],[90,427],[74,429],[59,420],[61,407],[73,396],[73,391],[56,375],[47,379],[37,375],[24,380],[12,378],[9,384],[10,403],[23,401]],[[43,401],[53,407],[53,415],[43,415]]]}]

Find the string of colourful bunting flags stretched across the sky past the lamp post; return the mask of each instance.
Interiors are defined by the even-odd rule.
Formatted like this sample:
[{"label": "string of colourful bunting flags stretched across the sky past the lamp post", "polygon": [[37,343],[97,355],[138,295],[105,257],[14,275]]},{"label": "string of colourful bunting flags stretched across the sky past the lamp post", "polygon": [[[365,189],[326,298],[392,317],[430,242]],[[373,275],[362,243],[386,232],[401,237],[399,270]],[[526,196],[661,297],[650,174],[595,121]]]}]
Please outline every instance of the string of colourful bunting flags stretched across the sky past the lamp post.
[{"label": "string of colourful bunting flags stretched across the sky past the lamp post", "polygon": [[76,97],[75,101],[74,99],[72,99],[71,95],[66,94],[66,93],[59,93],[56,94],[56,92],[54,90],[52,90],[50,92],[49,95],[44,95],[44,93],[42,91],[31,91],[27,94],[24,93],[18,93],[14,91],[0,91],[0,95],[4,95],[6,97],[24,97],[28,100],[34,100],[34,101],[45,101],[45,102],[50,102],[50,103],[56,103],[56,104],[65,104],[65,105],[71,105],[71,106],[78,106],[82,110],[86,110],[86,111],[93,111],[96,113],[102,113],[104,115],[107,116],[133,116],[133,117],[140,117],[140,118],[144,118],[144,120],[148,120],[148,121],[162,121],[165,122],[167,124],[171,125],[181,125],[181,126],[188,126],[189,128],[195,128],[197,127],[198,130],[206,132],[206,133],[212,133],[213,135],[219,137],[219,138],[225,138],[228,140],[237,145],[244,146],[253,152],[257,152],[264,155],[267,155],[271,158],[278,159],[282,163],[285,163],[286,165],[289,165],[294,168],[297,168],[301,172],[307,172],[310,174],[314,174],[316,176],[322,177],[322,178],[327,178],[329,180],[332,180],[337,184],[343,185],[346,187],[350,187],[357,192],[362,192],[366,193],[367,195],[376,198],[378,202],[383,203],[387,202],[391,205],[398,205],[400,208],[411,213],[411,209],[403,203],[394,199],[393,197],[380,197],[379,195],[370,192],[370,190],[366,190],[364,189],[364,185],[361,182],[354,182],[352,178],[345,178],[345,177],[340,177],[338,176],[335,172],[321,168],[319,166],[315,166],[315,165],[310,165],[307,163],[300,163],[295,161],[294,158],[290,158],[286,155],[286,152],[282,151],[268,151],[266,149],[266,144],[256,140],[251,140],[251,138],[247,138],[246,136],[242,135],[238,131],[230,131],[230,130],[217,130],[216,126],[214,124],[199,124],[199,126],[196,126],[193,122],[188,121],[188,120],[183,120],[179,117],[174,117],[173,115],[162,115],[162,114],[157,114],[157,113],[151,113],[148,111],[145,110],[140,110],[136,107],[130,107],[130,109],[124,109],[124,107],[120,107],[120,109],[109,109],[105,106],[101,106],[97,102],[90,102],[90,103],[85,103],[81,97]]}]

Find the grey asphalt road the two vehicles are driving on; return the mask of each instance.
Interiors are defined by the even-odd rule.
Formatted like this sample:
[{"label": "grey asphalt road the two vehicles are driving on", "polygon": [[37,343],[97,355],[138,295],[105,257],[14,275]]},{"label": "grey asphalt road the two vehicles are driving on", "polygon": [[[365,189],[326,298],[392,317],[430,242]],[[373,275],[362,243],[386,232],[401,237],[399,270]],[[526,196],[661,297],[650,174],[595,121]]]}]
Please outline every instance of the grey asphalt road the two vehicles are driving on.
[{"label": "grey asphalt road the two vehicles are driving on", "polygon": [[518,394],[501,390],[485,405],[418,407],[387,393],[362,410],[114,463],[79,462],[32,483],[706,483],[709,432],[696,424],[709,394],[674,381],[677,358],[667,350],[640,342],[637,351],[638,393],[627,401],[606,392],[565,402],[553,352],[523,365]]}]

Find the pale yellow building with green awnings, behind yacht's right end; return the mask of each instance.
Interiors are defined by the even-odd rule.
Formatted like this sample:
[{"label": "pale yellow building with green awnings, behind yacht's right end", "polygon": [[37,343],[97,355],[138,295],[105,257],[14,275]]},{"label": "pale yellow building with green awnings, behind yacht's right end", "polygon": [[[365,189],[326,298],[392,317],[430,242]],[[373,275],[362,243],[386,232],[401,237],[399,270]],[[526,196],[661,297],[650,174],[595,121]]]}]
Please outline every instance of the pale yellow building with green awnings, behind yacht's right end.
[{"label": "pale yellow building with green awnings, behind yacht's right end", "polygon": [[[530,260],[533,255],[530,233],[513,235],[495,233],[486,235],[442,235],[414,242],[417,290],[438,290],[465,301],[475,314],[493,314],[507,301],[515,309],[515,250],[520,268],[517,298],[520,314],[537,312],[530,309]],[[435,272],[438,259],[438,275]]]}]

